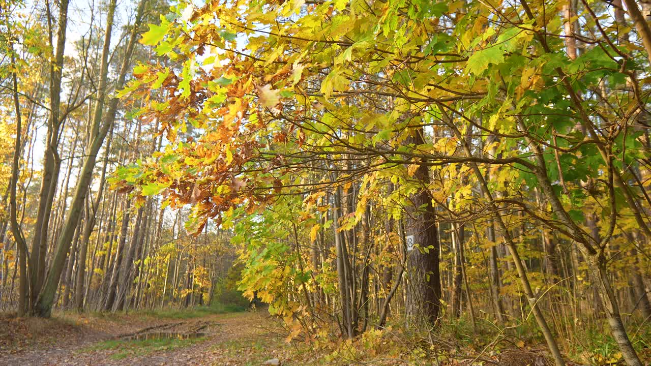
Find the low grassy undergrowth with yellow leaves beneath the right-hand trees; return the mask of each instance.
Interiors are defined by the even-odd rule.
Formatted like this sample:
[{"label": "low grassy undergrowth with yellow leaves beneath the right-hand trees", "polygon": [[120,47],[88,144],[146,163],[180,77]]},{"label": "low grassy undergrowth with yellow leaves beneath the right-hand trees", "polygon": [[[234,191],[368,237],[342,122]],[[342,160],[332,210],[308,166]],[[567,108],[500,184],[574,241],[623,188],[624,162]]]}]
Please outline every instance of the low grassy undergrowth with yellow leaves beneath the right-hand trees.
[{"label": "low grassy undergrowth with yellow leaves beneath the right-hand trees", "polygon": [[[499,361],[501,355],[507,353],[510,359],[521,354],[523,362],[527,361],[525,356],[531,357],[532,354],[544,356],[551,362],[544,337],[533,317],[509,326],[498,326],[486,318],[476,318],[474,325],[469,317],[446,318],[441,320],[436,330],[409,326],[404,319],[394,318],[383,330],[369,329],[354,339],[312,335],[311,342],[296,339],[294,344],[309,347],[311,352],[320,354],[314,360],[316,365],[430,365],[432,362],[454,365],[461,361],[478,365]],[[651,324],[631,321],[629,329],[631,342],[640,357],[651,359]],[[601,328],[584,325],[575,328],[575,332],[572,339],[579,341],[568,342],[561,334],[555,335],[561,341],[561,352],[566,360],[581,365],[624,365],[605,320]],[[337,332],[331,330],[329,334]]]}]

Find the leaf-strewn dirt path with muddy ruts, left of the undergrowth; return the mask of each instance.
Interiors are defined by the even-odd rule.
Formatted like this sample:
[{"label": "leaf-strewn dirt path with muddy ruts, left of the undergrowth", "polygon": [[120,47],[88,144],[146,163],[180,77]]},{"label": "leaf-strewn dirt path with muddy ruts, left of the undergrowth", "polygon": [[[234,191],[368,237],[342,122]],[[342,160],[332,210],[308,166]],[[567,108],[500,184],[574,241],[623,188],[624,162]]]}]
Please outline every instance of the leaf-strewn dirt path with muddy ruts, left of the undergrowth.
[{"label": "leaf-strewn dirt path with muddy ruts, left of the undergrowth", "polygon": [[[291,357],[281,337],[269,330],[274,325],[266,311],[208,315],[185,320],[137,315],[79,319],[81,321],[68,318],[22,320],[23,331],[27,330],[28,335],[34,332],[36,337],[32,336],[33,339],[43,342],[25,342],[21,345],[17,339],[20,335],[15,334],[16,324],[3,318],[3,322],[7,322],[8,333],[0,331],[0,365],[235,366],[261,365],[266,359],[287,360]],[[39,321],[44,324],[36,324]],[[4,325],[0,324],[0,328]],[[193,337],[183,337],[192,335],[195,330],[199,330],[199,333]],[[12,331],[13,339],[3,342],[3,337],[12,337]],[[134,333],[139,335],[139,339],[134,339]],[[161,333],[182,336],[161,337]]]}]

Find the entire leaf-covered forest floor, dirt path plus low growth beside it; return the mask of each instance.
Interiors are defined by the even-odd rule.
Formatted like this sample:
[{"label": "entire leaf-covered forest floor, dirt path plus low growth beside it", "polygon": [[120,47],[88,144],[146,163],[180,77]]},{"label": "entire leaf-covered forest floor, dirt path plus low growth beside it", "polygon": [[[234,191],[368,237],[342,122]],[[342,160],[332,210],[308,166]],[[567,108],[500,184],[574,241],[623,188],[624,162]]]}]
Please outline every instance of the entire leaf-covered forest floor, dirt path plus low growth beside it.
[{"label": "entire leaf-covered forest floor, dirt path plus low growth beside it", "polygon": [[[171,336],[170,336],[171,335]],[[402,330],[370,331],[314,351],[268,312],[59,313],[50,319],[0,315],[0,366],[206,365],[552,365],[540,345],[497,352],[407,345]],[[478,342],[477,339],[475,342]],[[273,363],[277,359],[278,363]],[[581,365],[583,363],[568,363]],[[618,364],[617,361],[607,363]]]}]

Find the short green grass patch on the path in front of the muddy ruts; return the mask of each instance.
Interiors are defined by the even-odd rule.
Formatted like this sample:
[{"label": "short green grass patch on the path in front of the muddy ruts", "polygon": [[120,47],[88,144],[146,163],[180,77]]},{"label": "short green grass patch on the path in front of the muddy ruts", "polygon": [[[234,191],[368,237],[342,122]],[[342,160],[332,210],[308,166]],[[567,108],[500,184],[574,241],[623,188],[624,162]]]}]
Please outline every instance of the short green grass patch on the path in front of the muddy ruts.
[{"label": "short green grass patch on the path in front of the muddy ruts", "polygon": [[117,360],[134,356],[146,356],[154,352],[171,351],[183,348],[204,341],[205,337],[192,339],[164,338],[164,339],[137,339],[137,340],[109,340],[96,343],[84,348],[82,352],[93,352],[97,350],[112,350],[115,353],[109,358]]}]

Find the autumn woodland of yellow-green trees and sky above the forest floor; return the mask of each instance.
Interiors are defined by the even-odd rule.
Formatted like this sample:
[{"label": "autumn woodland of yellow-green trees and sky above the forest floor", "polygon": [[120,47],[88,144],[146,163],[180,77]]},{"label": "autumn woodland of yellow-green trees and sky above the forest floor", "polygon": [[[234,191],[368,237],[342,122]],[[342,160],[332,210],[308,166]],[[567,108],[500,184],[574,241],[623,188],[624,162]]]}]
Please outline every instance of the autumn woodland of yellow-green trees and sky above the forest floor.
[{"label": "autumn woodland of yellow-green trees and sky above the forest floor", "polygon": [[317,345],[451,329],[644,365],[650,22],[633,0],[0,0],[0,310],[250,300]]}]

